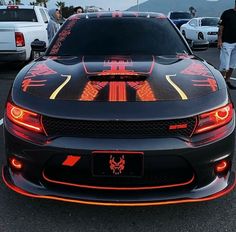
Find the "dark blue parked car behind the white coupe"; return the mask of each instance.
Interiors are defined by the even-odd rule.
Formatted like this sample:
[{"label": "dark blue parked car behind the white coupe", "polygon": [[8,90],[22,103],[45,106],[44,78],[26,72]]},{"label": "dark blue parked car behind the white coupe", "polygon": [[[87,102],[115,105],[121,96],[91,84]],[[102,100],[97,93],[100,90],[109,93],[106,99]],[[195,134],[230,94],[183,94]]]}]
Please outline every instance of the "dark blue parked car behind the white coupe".
[{"label": "dark blue parked car behind the white coupe", "polygon": [[187,11],[171,11],[168,13],[167,17],[180,28],[181,25],[187,23],[192,18],[192,15]]}]

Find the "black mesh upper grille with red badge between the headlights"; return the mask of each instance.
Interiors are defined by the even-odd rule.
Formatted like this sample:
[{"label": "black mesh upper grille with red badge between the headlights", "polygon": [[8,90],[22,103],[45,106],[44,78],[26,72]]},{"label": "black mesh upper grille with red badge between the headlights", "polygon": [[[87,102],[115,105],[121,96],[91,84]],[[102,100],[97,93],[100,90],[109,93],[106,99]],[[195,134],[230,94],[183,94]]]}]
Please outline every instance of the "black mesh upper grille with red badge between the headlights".
[{"label": "black mesh upper grille with red badge between the headlights", "polygon": [[161,121],[90,121],[44,116],[42,122],[50,137],[156,138],[163,136],[190,137],[196,120],[196,117],[191,117]]}]

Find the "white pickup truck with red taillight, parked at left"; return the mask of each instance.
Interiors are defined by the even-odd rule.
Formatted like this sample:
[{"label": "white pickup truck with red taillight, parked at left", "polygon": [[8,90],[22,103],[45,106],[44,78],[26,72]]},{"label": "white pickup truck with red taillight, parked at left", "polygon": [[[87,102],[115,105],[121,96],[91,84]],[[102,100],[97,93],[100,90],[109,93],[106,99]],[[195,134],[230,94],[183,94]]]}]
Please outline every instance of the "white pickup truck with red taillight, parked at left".
[{"label": "white pickup truck with red taillight, parked at left", "polygon": [[48,21],[44,7],[0,6],[0,61],[30,60],[31,42],[38,39],[48,45]]}]

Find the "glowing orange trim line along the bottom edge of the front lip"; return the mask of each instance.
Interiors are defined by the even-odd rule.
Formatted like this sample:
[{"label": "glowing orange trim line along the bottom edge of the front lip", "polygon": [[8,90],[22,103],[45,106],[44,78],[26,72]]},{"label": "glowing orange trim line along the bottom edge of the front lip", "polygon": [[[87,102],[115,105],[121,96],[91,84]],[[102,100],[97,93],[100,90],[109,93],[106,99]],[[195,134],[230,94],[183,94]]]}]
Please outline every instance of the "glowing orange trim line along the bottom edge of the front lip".
[{"label": "glowing orange trim line along the bottom edge of the front lip", "polygon": [[54,196],[43,196],[43,195],[34,195],[31,193],[28,193],[16,186],[13,186],[12,184],[9,184],[3,173],[3,168],[2,168],[2,178],[3,182],[6,184],[6,186],[13,191],[24,195],[28,197],[33,197],[33,198],[41,198],[41,199],[50,199],[50,200],[58,200],[58,201],[64,201],[64,202],[72,202],[72,203],[79,203],[79,204],[87,204],[87,205],[97,205],[97,206],[158,206],[158,205],[170,205],[170,204],[180,204],[180,203],[193,203],[193,202],[202,202],[202,201],[210,201],[214,200],[216,198],[219,198],[221,196],[224,196],[231,192],[235,185],[236,185],[236,180],[234,181],[233,185],[226,189],[223,190],[219,193],[213,194],[209,197],[204,197],[204,198],[198,198],[198,199],[182,199],[182,200],[171,200],[171,201],[162,201],[162,202],[140,202],[140,203],[112,203],[112,202],[96,202],[96,201],[84,201],[84,200],[75,200],[75,199],[68,199],[68,198],[62,198],[62,197],[54,197]]}]

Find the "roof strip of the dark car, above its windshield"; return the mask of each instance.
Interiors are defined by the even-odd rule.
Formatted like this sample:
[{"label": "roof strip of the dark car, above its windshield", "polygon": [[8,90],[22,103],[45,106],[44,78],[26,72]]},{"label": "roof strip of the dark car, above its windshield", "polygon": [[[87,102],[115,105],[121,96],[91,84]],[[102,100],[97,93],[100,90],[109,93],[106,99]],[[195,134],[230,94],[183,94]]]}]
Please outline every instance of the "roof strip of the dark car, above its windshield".
[{"label": "roof strip of the dark car, above its windshield", "polygon": [[92,13],[80,13],[69,17],[69,19],[80,18],[167,18],[166,15],[156,12],[131,12],[131,11],[99,11]]}]

